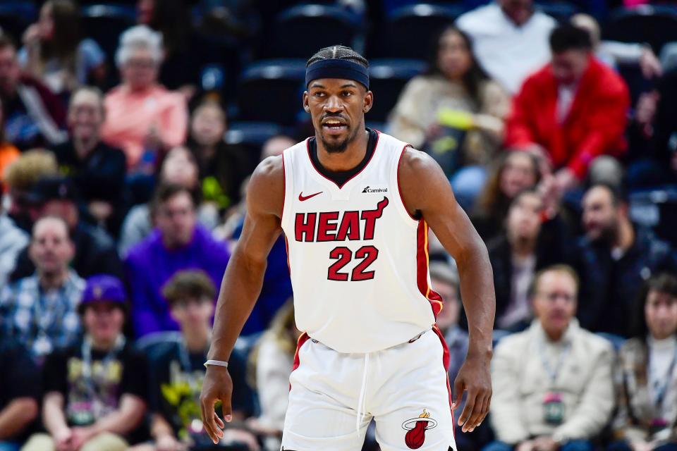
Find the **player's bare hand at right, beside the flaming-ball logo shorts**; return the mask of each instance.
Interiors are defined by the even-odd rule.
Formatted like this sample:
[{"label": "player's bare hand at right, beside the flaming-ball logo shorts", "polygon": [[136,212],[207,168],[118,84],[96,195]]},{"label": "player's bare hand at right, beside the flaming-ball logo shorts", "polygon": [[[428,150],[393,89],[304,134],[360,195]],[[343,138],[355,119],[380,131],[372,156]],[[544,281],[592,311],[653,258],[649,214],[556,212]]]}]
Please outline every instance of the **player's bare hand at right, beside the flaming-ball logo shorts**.
[{"label": "player's bare hand at right, beside the flaming-ball logo shorts", "polygon": [[453,392],[456,399],[452,409],[461,403],[463,391],[468,392],[465,407],[458,417],[458,426],[463,426],[463,432],[472,432],[482,424],[489,413],[489,404],[492,402],[492,377],[489,373],[490,357],[471,356],[458,370],[458,376],[453,383]]}]

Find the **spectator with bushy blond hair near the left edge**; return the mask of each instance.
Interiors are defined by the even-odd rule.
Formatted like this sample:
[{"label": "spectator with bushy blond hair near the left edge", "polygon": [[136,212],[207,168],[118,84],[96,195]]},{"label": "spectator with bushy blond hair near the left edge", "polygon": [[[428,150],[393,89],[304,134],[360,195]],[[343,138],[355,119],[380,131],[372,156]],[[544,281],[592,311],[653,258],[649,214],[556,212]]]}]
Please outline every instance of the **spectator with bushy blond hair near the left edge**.
[{"label": "spectator with bushy blond hair near the left edge", "polygon": [[23,152],[5,171],[5,184],[9,192],[7,213],[16,225],[30,232],[39,218],[39,205],[33,190],[38,180],[59,173],[54,154],[44,149]]}]

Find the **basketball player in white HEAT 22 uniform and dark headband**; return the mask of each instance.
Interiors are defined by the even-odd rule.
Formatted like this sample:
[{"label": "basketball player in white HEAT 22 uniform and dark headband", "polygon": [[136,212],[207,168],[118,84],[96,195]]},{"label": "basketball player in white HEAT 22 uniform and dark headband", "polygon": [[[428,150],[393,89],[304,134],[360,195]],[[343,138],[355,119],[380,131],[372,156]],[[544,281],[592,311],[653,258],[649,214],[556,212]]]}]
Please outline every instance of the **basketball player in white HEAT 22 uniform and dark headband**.
[{"label": "basketball player in white HEAT 22 uniform and dark headband", "polygon": [[[492,396],[494,285],[487,249],[432,158],[365,128],[374,96],[367,61],[327,47],[307,62],[303,108],[315,137],[264,160],[222,284],[202,388],[214,443],[231,420],[227,361],[259,295],[281,231],[288,248],[298,340],[282,449],[360,450],[376,422],[383,451],[456,450],[453,404],[472,431]],[[271,99],[275,108],[275,99]],[[449,352],[434,325],[428,225],[456,259],[470,346],[452,403]]]}]

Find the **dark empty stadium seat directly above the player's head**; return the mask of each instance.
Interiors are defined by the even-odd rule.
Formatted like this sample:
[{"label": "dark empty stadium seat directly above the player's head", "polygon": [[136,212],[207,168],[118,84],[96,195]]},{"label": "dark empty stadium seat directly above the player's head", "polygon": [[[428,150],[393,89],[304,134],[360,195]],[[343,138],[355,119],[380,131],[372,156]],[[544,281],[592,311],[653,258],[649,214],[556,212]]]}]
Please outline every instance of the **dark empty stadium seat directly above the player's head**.
[{"label": "dark empty stadium seat directly above the player's head", "polygon": [[361,30],[362,18],[338,6],[293,6],[277,16],[264,56],[307,59],[335,44],[360,49]]}]

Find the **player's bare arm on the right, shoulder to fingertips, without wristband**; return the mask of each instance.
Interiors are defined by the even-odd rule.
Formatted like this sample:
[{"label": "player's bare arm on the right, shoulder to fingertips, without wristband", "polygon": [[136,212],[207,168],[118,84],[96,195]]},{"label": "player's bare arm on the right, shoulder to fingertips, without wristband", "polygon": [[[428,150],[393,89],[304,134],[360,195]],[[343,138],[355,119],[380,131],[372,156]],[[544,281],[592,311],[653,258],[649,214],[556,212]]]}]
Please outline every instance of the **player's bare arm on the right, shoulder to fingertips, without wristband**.
[{"label": "player's bare arm on the right, shoulder to fingertips, without wristband", "polygon": [[458,419],[463,431],[472,431],[489,412],[492,381],[492,330],[496,297],[487,247],[453,196],[451,185],[437,162],[415,149],[406,149],[398,168],[403,202],[410,214],[421,215],[458,265],[461,298],[468,316],[470,344],[454,382],[455,405],[468,391]]}]

